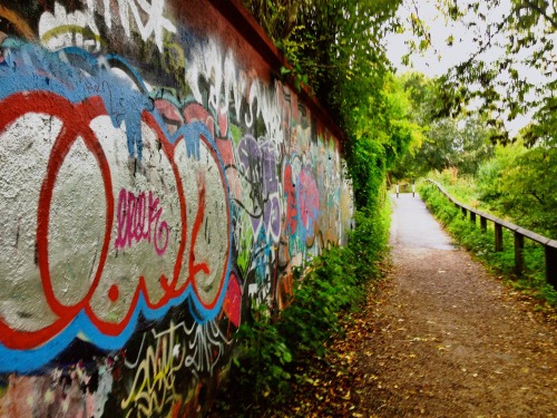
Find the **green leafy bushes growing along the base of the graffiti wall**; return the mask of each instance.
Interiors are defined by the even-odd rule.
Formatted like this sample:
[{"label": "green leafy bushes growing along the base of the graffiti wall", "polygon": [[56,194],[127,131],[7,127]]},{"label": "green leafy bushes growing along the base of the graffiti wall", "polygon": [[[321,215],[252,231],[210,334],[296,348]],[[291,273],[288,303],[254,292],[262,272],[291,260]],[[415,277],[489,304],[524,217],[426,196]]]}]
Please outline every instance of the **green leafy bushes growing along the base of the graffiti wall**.
[{"label": "green leafy bushes growing along the base of the graffiti wall", "polygon": [[342,337],[341,319],[359,309],[388,250],[390,211],[385,193],[381,195],[375,211],[356,213],[346,246],[324,250],[309,262],[303,276],[296,270],[292,299],[282,312],[253,307],[235,334],[227,398],[217,408],[257,416],[273,402],[285,401],[292,378],[303,378],[297,375],[300,366],[323,359],[332,338]]}]

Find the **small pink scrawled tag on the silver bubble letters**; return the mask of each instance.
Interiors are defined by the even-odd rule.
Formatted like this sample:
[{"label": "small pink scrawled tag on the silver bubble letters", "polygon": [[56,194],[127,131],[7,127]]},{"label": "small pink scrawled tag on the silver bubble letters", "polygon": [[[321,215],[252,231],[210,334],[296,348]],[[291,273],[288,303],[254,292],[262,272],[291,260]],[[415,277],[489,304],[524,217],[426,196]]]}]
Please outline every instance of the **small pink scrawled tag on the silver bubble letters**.
[{"label": "small pink scrawled tag on the silver bubble letters", "polygon": [[[145,192],[136,196],[131,192],[120,191],[118,196],[118,237],[115,241],[117,250],[131,246],[133,243],[139,243],[147,240],[152,242],[158,255],[163,255],[168,246],[168,224],[160,222],[163,207],[158,207],[160,200],[154,198],[153,192],[149,192],[149,201]],[[164,244],[162,244],[164,240]]]}]

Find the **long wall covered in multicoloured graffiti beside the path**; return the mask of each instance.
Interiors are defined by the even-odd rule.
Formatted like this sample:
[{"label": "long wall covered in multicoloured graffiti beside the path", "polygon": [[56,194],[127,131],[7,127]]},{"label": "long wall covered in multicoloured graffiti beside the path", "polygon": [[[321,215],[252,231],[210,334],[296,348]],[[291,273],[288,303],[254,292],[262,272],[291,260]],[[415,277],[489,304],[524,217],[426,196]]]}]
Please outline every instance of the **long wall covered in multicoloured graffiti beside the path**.
[{"label": "long wall covered in multicoloured graffiti beside the path", "polygon": [[331,123],[225,14],[0,0],[0,416],[202,415],[251,305],[344,242]]}]

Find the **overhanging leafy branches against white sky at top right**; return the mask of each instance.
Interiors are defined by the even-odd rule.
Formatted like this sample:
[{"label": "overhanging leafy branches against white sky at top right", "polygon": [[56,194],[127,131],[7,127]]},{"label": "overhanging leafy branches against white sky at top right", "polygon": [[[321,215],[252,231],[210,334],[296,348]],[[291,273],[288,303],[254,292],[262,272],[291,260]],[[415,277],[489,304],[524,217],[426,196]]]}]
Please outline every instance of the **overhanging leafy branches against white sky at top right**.
[{"label": "overhanging leafy branches against white sky at top right", "polygon": [[[411,1],[419,11],[418,0]],[[476,42],[475,54],[443,76],[447,106],[439,116],[455,116],[479,100],[481,114],[498,128],[492,139],[505,144],[514,139],[505,121],[531,113],[531,123],[521,132],[525,145],[556,144],[555,1],[438,0],[438,8],[447,19],[465,25]],[[419,28],[422,35],[423,26]],[[455,37],[447,43],[453,45]]]}]

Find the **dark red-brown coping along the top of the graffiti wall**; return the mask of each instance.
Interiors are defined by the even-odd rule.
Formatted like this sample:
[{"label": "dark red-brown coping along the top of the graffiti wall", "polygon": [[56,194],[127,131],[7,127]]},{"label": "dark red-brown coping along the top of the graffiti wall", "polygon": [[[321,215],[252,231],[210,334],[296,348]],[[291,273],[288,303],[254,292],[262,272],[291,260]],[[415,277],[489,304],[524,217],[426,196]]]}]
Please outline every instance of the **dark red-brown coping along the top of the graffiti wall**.
[{"label": "dark red-brown coping along the top of the graffiti wall", "polygon": [[[281,67],[291,68],[278,48],[273,43],[271,38],[265,33],[263,28],[257,23],[255,18],[242,4],[241,0],[208,0],[213,7],[233,25],[238,33],[253,46],[261,57],[270,65],[270,67],[280,74]],[[336,125],[329,111],[321,106],[315,97],[310,93],[306,86],[302,86],[297,91],[292,80],[285,82],[293,91],[296,91],[300,98],[310,107],[310,109],[319,117],[319,119],[329,128],[329,130],[339,139],[341,144],[345,142],[345,135]]]}]

